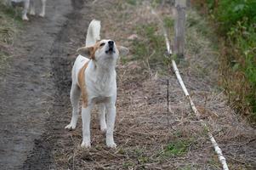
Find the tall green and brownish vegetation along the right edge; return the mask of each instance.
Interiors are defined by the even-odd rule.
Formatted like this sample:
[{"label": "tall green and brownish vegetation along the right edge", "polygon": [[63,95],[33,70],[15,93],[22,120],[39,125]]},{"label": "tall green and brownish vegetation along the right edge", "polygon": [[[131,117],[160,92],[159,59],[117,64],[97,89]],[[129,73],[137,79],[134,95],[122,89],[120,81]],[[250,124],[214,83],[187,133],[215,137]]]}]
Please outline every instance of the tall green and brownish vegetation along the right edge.
[{"label": "tall green and brownish vegetation along the right edge", "polygon": [[[222,86],[239,113],[256,122],[256,1],[195,0],[208,11],[220,41]],[[188,19],[188,20],[193,20]],[[191,23],[193,23],[191,21]]]}]

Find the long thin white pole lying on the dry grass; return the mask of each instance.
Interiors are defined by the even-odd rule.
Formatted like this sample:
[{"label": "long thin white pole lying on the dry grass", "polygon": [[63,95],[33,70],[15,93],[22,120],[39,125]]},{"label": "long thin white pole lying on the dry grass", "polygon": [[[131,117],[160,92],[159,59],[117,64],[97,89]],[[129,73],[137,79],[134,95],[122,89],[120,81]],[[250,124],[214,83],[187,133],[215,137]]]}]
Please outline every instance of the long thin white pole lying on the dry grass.
[{"label": "long thin white pole lying on the dry grass", "polygon": [[[162,20],[160,19],[160,17],[159,17],[153,10],[151,10],[151,13],[152,13],[152,14],[155,14],[157,20],[159,20],[160,23],[161,23],[163,35],[164,35],[164,37],[165,37],[165,42],[166,42],[166,48],[167,48],[167,50],[168,50],[169,56],[172,57],[173,52],[172,52],[172,50],[171,50],[171,48],[170,48],[170,42],[169,42],[169,40],[168,40],[168,34],[167,34],[167,31],[165,30],[165,28],[164,28],[164,26],[163,26]],[[222,150],[219,148],[218,143],[217,143],[216,140],[213,138],[212,133],[210,133],[207,124],[206,124],[202,119],[200,119],[200,115],[199,115],[199,112],[198,112],[197,109],[196,109],[196,105],[194,104],[193,100],[191,99],[191,95],[188,93],[187,88],[185,88],[185,83],[183,82],[182,78],[180,77],[179,69],[178,69],[178,67],[177,67],[176,62],[175,62],[174,59],[172,59],[172,65],[173,65],[173,68],[174,68],[175,75],[176,75],[176,77],[177,77],[177,79],[178,79],[179,85],[181,86],[181,88],[182,88],[182,90],[183,90],[183,92],[184,92],[184,94],[185,94],[186,99],[189,99],[189,102],[190,102],[192,111],[195,113],[196,118],[200,121],[202,127],[204,127],[205,129],[207,129],[207,131],[208,131],[208,137],[209,137],[209,139],[211,140],[211,142],[212,142],[212,144],[213,144],[213,148],[214,148],[215,152],[216,152],[217,155],[218,155],[219,161],[220,161],[220,163],[221,163],[223,169],[224,169],[224,170],[229,170],[229,167],[228,167],[228,165],[227,165],[227,163],[226,163],[226,161],[225,161],[225,157],[224,157],[223,154],[222,154]]]}]

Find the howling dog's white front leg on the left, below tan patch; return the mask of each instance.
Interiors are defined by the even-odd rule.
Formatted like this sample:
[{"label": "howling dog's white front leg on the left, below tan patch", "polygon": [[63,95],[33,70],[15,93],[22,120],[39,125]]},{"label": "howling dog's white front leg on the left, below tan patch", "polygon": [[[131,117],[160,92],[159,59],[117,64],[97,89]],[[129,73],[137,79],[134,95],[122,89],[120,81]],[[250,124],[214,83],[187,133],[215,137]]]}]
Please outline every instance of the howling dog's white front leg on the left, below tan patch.
[{"label": "howling dog's white front leg on the left, below tan patch", "polygon": [[92,105],[86,108],[82,106],[82,148],[91,147],[90,121],[91,121]]}]

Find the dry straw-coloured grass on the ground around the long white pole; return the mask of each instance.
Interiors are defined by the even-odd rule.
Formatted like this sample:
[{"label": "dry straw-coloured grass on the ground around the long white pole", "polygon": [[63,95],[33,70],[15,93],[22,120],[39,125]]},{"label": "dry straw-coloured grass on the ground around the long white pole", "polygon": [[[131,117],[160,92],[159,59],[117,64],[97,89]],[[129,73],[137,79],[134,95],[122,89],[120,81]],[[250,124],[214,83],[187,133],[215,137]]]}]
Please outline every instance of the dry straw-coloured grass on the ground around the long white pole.
[{"label": "dry straw-coloured grass on the ground around the long white pole", "polygon": [[[138,26],[157,25],[149,5],[151,3],[147,1],[140,1],[136,6],[125,1],[96,1],[91,8],[95,8],[94,16],[102,20],[102,37],[111,37],[118,43],[131,47],[136,53],[133,41],[128,40],[128,37],[132,34],[139,36],[136,31]],[[167,6],[159,6],[156,12],[162,17],[172,16]],[[113,14],[116,17],[112,17]],[[202,119],[208,122],[227,156],[230,169],[253,169],[255,130],[245,122],[239,122],[226,105],[223,92],[213,88],[218,78],[214,75],[218,71],[215,70],[215,60],[212,60],[215,53],[210,48],[211,42],[195,27],[188,29],[188,63],[179,65],[185,84],[193,94],[192,98]],[[161,33],[161,29],[156,30],[156,35]],[[147,41],[147,37],[138,38],[140,41]],[[195,51],[195,48],[198,50]],[[202,52],[201,49],[206,51]],[[127,58],[133,58],[134,53]],[[167,69],[168,77],[159,76],[144,59],[121,62],[117,67],[117,150],[105,147],[105,135],[100,133],[94,111],[91,126],[92,149],[82,150],[79,147],[82,140],[79,122],[76,131],[65,134],[55,144],[54,158],[58,169],[220,169],[213,147],[200,122],[192,114],[170,68]],[[197,65],[207,71],[198,73]],[[203,76],[199,77],[199,74]],[[169,115],[167,79],[171,84]],[[66,122],[68,121],[69,116],[66,116]],[[241,147],[237,150],[239,146]]]}]

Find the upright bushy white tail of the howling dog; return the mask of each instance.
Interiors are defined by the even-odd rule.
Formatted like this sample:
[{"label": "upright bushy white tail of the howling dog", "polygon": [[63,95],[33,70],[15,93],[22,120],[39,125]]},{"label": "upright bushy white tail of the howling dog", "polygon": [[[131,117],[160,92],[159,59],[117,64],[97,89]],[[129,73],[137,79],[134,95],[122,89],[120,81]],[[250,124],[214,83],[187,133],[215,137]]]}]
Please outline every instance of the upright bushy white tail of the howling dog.
[{"label": "upright bushy white tail of the howling dog", "polygon": [[100,40],[100,20],[92,20],[88,26],[85,46],[93,46]]}]

